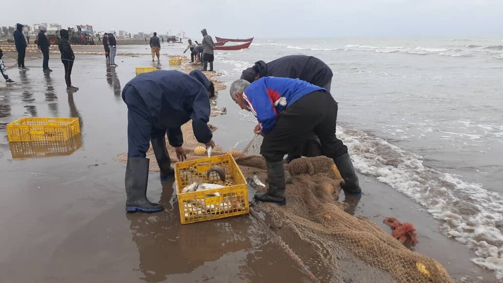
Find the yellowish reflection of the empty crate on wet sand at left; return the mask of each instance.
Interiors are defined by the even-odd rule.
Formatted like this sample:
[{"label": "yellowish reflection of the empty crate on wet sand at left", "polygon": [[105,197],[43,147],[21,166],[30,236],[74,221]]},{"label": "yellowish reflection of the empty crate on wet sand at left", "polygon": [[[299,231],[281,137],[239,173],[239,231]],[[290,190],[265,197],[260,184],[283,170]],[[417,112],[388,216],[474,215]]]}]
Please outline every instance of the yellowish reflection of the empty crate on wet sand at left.
[{"label": "yellowish reflection of the empty crate on wet sand at left", "polygon": [[10,142],[13,159],[70,155],[82,146],[80,134],[67,141]]}]

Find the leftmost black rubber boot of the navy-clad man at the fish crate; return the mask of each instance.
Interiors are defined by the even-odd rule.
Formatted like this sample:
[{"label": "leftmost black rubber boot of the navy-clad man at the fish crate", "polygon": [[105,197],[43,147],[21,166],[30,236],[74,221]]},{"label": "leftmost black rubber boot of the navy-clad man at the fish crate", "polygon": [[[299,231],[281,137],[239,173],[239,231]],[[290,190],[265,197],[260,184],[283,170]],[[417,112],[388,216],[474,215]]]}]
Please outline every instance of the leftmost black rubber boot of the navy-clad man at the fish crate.
[{"label": "leftmost black rubber boot of the navy-clad man at the fish crate", "polygon": [[148,158],[128,158],[126,165],[126,211],[157,212],[164,208],[147,200]]}]

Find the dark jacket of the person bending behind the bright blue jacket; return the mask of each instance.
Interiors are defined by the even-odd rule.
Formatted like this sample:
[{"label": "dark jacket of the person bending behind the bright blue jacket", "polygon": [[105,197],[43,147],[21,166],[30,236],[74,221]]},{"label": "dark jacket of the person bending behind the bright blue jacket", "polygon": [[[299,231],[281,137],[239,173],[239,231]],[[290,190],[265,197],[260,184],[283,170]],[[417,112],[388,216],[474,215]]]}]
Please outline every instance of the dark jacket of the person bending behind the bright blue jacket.
[{"label": "dark jacket of the person bending behind the bright blue jacket", "polygon": [[269,63],[257,61],[245,69],[241,78],[253,82],[255,77],[275,76],[299,78],[317,86],[325,86],[332,79],[332,70],[320,59],[306,55],[289,55]]}]

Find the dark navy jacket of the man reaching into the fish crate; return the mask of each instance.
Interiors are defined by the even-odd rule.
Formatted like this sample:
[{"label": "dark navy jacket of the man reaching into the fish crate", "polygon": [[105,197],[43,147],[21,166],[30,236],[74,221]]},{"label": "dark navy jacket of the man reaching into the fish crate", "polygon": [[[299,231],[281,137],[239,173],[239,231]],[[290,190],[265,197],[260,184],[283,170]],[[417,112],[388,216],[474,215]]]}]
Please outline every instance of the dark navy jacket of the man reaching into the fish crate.
[{"label": "dark navy jacket of the man reaching into the fish crate", "polygon": [[207,125],[210,119],[208,90],[193,76],[175,70],[143,73],[124,86],[124,101],[126,93],[133,93],[144,102],[153,131],[167,130],[172,146],[183,144],[181,127],[191,119],[198,142],[208,143],[213,137]]}]

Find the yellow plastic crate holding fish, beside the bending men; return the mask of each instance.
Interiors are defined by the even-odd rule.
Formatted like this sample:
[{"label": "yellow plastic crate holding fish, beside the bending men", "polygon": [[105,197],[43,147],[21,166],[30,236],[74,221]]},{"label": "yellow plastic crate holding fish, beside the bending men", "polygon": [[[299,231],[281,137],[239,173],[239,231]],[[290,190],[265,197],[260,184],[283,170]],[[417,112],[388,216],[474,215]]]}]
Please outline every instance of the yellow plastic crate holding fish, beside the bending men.
[{"label": "yellow plastic crate holding fish, beside the bending men", "polygon": [[[225,170],[225,183],[216,173],[207,179],[206,172],[213,165]],[[182,224],[249,213],[246,180],[230,154],[178,162],[175,164],[175,180]],[[225,187],[182,194],[183,188],[195,181],[222,184]],[[212,196],[214,193],[220,195]]]}]

